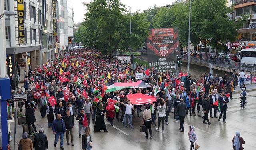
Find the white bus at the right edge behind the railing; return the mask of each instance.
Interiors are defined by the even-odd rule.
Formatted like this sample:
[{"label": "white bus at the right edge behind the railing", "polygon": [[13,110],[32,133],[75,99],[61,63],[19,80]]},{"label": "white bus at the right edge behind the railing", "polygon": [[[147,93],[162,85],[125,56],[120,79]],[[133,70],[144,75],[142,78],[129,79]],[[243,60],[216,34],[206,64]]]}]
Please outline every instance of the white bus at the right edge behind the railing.
[{"label": "white bus at the right edge behind the railing", "polygon": [[256,48],[246,48],[240,52],[240,62],[247,66],[253,66],[256,68]]}]

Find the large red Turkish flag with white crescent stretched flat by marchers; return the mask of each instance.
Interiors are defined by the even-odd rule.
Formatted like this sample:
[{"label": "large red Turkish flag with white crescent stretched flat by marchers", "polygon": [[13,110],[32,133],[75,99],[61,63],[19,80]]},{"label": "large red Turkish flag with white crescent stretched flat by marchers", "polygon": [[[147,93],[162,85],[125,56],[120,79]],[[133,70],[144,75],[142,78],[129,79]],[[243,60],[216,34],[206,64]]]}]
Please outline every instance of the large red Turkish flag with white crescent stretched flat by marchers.
[{"label": "large red Turkish flag with white crescent stretched flat by marchers", "polygon": [[135,93],[127,95],[132,104],[144,105],[156,102],[155,96],[149,96],[142,93]]}]

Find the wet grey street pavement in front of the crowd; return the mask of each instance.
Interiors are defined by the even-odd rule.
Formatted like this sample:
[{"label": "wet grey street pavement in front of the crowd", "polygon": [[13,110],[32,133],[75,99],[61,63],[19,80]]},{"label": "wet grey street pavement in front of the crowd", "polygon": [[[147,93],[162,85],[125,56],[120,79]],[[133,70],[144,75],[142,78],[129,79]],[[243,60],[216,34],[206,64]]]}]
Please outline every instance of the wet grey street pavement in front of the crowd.
[{"label": "wet grey street pavement in front of the crowd", "polygon": [[[239,94],[233,95],[233,100],[228,103],[227,118],[226,123],[222,120],[218,122],[218,118],[210,118],[211,126],[202,123],[202,118],[198,116],[186,116],[184,122],[185,133],[178,130],[180,124],[176,124],[173,119],[173,114],[169,115],[169,125],[165,125],[164,134],[157,132],[152,126],[152,139],[145,139],[145,134],[140,132],[140,124],[142,122],[142,112],[140,112],[140,117],[137,116],[133,119],[134,129],[125,129],[120,122],[114,119],[114,127],[110,126],[105,120],[108,133],[100,132],[93,133],[94,124],[92,121],[90,123],[91,135],[94,150],[113,150],[117,148],[122,148],[122,150],[188,150],[190,148],[190,142],[188,141],[188,128],[189,125],[195,126],[195,132],[198,137],[198,144],[201,150],[231,150],[232,149],[232,138],[236,131],[241,132],[241,137],[246,141],[244,149],[254,150],[256,146],[254,145],[254,139],[256,138],[256,131],[254,129],[256,124],[256,102],[254,98],[256,97],[256,91],[248,92],[247,100],[248,104],[245,109],[239,110],[240,99]],[[24,111],[23,111],[24,112]],[[219,116],[219,114],[217,114]],[[210,116],[209,116],[210,117]],[[58,141],[57,147],[54,148],[54,134],[52,134],[52,129],[47,127],[47,117],[40,117],[40,111],[36,110],[36,128],[39,130],[40,127],[44,128],[45,134],[48,138],[48,149],[58,150],[60,149],[60,140]],[[161,125],[160,125],[161,129]],[[12,130],[12,142],[10,143],[13,147],[14,140],[14,123],[11,124]],[[22,125],[17,125],[16,133],[16,149],[18,141],[22,137]],[[78,122],[75,121],[74,128],[74,146],[66,144],[66,134],[64,136],[64,149],[72,150],[74,148],[81,149],[82,138],[78,137]]]}]

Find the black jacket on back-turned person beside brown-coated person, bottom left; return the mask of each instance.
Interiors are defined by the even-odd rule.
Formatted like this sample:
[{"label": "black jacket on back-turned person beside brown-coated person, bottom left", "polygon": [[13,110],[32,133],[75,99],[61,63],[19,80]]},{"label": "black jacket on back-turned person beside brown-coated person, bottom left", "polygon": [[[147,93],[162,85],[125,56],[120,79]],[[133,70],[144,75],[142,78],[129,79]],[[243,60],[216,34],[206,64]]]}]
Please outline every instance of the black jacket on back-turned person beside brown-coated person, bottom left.
[{"label": "black jacket on back-turned person beside brown-coated person, bottom left", "polygon": [[[42,139],[42,147],[38,147],[38,144],[40,140]],[[48,149],[48,140],[46,134],[43,133],[38,133],[36,134],[33,142],[33,147],[35,150],[45,150]]]}]

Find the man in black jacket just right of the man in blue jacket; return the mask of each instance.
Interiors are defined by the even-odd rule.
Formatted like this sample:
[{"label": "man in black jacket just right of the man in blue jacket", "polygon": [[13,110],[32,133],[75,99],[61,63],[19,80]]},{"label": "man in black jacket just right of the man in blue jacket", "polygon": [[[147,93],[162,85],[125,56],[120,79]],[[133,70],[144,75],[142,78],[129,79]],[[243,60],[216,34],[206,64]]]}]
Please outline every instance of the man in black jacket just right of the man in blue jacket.
[{"label": "man in black jacket just right of the man in blue jacket", "polygon": [[74,118],[73,116],[70,114],[70,110],[67,109],[66,110],[66,115],[61,117],[64,122],[65,122],[65,126],[66,126],[66,139],[67,139],[67,144],[69,145],[69,133],[71,136],[71,145],[74,146],[74,135],[73,135],[73,128],[75,126],[74,124]]}]

